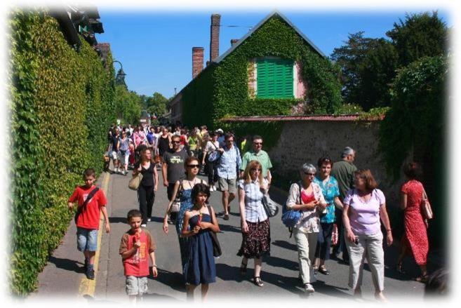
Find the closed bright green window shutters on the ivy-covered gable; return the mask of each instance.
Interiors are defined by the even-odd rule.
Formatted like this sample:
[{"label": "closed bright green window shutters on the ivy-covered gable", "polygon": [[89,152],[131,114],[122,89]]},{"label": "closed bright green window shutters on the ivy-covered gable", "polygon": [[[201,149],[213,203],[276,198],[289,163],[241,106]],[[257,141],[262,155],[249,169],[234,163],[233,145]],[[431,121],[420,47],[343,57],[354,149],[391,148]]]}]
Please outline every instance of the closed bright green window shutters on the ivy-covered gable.
[{"label": "closed bright green window shutters on the ivy-covered gable", "polygon": [[257,72],[257,98],[294,97],[292,60],[258,60]]}]

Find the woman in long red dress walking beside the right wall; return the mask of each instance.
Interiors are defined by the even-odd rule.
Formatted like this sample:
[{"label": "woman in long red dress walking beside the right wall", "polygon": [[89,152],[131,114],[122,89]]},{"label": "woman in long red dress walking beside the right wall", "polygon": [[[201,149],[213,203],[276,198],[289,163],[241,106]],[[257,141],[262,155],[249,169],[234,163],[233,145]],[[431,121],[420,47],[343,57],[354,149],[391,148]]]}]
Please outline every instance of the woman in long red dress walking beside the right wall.
[{"label": "woman in long red dress walking beside the right wall", "polygon": [[405,234],[401,239],[400,254],[397,259],[397,271],[403,273],[402,260],[406,254],[410,253],[415,258],[415,262],[420,266],[421,276],[417,281],[425,282],[427,280],[427,252],[429,251],[429,242],[427,241],[427,220],[422,214],[422,196],[424,187],[417,181],[421,175],[421,168],[418,163],[408,163],[403,168],[408,181],[401,187],[400,207],[405,213]]}]

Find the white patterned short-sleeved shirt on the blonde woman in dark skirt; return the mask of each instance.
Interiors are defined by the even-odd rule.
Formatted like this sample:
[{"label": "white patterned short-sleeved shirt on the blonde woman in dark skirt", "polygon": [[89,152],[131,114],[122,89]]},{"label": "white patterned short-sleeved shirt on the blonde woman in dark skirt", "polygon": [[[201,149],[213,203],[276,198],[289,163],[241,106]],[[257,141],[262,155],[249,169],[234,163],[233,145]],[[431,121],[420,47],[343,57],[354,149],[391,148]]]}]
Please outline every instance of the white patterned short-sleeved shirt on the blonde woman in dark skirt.
[{"label": "white patterned short-sleeved shirt on the blonde woman in dark skirt", "polygon": [[[267,185],[267,180],[263,179]],[[239,189],[245,192],[245,220],[247,222],[262,222],[267,220],[267,214],[262,206],[262,192],[260,191],[260,183],[257,180],[246,184],[243,180],[239,180]]]}]

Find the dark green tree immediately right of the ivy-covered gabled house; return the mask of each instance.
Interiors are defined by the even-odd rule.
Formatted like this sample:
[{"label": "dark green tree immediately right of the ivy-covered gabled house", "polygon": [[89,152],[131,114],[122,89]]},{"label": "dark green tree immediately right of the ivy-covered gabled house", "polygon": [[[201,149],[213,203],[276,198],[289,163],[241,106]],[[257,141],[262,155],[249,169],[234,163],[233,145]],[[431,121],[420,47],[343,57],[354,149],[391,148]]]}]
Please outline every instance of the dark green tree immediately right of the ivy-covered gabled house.
[{"label": "dark green tree immediately right of the ivy-covered gabled house", "polygon": [[335,48],[331,58],[342,69],[342,97],[348,104],[368,111],[389,105],[389,84],[398,64],[395,48],[385,39],[349,34],[344,46]]}]

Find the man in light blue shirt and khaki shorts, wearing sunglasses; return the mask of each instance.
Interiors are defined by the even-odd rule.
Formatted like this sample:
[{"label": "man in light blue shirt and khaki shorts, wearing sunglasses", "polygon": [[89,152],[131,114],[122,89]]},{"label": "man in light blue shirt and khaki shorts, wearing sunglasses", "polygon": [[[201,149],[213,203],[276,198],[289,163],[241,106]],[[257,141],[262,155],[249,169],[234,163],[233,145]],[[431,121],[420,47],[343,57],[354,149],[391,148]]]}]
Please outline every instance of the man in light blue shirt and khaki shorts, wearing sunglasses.
[{"label": "man in light blue shirt and khaki shorts, wearing sunglasses", "polygon": [[237,192],[237,170],[241,165],[239,148],[234,145],[234,135],[226,133],[225,146],[217,151],[221,152],[218,162],[218,187],[222,192],[222,207],[224,208],[224,220],[229,220],[229,203],[235,198]]}]

